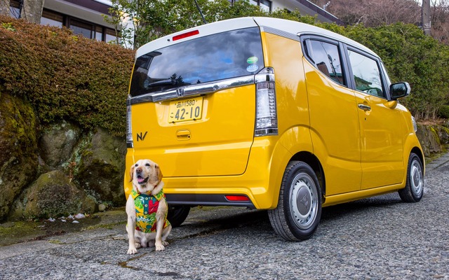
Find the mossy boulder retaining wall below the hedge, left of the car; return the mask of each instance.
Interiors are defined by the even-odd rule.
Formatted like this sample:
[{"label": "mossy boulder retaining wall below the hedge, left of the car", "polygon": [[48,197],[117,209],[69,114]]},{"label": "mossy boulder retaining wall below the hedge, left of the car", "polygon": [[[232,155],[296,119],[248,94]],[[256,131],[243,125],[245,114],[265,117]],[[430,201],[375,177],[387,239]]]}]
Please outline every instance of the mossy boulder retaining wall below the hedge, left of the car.
[{"label": "mossy boulder retaining wall below the hedge, left of the car", "polygon": [[123,206],[126,141],[64,120],[39,125],[30,104],[0,94],[0,221]]}]

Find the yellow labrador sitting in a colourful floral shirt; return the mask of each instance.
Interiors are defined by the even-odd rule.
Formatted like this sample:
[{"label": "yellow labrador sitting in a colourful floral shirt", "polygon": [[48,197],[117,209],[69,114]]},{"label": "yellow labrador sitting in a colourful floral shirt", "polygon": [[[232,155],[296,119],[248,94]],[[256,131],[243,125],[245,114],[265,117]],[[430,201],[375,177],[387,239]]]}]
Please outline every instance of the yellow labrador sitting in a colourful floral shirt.
[{"label": "yellow labrador sitting in a colourful floral shirt", "polygon": [[[130,169],[133,190],[126,201],[128,215],[128,254],[150,246],[154,241],[156,251],[165,250],[171,231],[167,220],[168,206],[163,194],[162,172],[151,160],[138,160]],[[152,244],[151,244],[152,246]]]}]

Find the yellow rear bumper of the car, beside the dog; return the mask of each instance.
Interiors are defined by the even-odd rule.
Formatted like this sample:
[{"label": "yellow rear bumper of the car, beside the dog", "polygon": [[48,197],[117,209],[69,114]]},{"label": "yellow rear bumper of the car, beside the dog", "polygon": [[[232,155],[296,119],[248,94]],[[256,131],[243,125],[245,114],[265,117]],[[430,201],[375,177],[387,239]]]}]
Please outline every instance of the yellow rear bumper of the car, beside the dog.
[{"label": "yellow rear bumper of the car, beside the dog", "polygon": [[[250,209],[272,209],[277,206],[279,186],[286,161],[291,155],[277,137],[258,137],[253,142],[245,172],[232,176],[164,177],[163,191],[172,205],[239,206]],[[128,148],[126,169],[133,165],[133,148]],[[229,155],[232,156],[232,155]],[[135,160],[140,160],[135,158]],[[149,158],[151,158],[149,156]],[[125,194],[133,186],[130,174],[125,173]],[[227,195],[244,195],[247,201],[230,201]]]}]

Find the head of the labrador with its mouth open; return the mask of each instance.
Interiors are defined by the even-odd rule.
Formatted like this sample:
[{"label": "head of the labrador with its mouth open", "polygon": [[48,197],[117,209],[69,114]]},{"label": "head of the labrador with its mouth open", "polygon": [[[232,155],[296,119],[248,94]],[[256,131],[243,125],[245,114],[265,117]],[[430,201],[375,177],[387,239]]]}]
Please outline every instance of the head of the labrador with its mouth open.
[{"label": "head of the labrador with its mouth open", "polygon": [[133,185],[140,191],[152,190],[162,180],[162,172],[159,165],[151,160],[138,160],[130,169],[130,177]]}]

